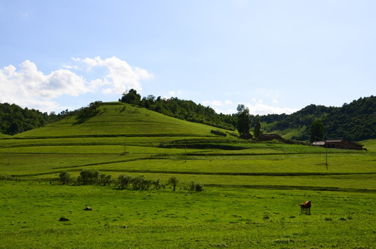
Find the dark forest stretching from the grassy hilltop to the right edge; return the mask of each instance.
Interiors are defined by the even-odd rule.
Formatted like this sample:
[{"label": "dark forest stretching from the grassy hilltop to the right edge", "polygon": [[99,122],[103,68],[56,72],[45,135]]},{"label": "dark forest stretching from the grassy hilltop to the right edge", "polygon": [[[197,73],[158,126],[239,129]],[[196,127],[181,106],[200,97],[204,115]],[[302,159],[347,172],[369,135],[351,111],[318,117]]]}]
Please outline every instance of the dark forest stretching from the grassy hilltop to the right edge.
[{"label": "dark forest stretching from the grassy hilltop to the right edge", "polygon": [[[164,99],[156,98],[153,95],[141,98],[137,91],[131,89],[123,93],[122,102],[144,107],[164,115],[200,122],[214,127],[235,130],[238,120],[237,113],[223,114],[216,113],[211,107],[204,107],[191,100],[180,100],[178,98]],[[256,116],[250,120],[254,127]],[[263,122],[264,133],[279,133],[283,135],[286,130],[297,129],[299,134],[292,137],[292,140],[308,140],[310,138],[310,126],[314,120],[321,120],[325,127],[324,139],[328,137],[343,137],[346,140],[360,141],[376,138],[376,97],[373,95],[366,98],[359,98],[350,104],[342,107],[324,107],[322,105],[310,104],[309,106],[287,115],[269,114],[259,116]]]}]

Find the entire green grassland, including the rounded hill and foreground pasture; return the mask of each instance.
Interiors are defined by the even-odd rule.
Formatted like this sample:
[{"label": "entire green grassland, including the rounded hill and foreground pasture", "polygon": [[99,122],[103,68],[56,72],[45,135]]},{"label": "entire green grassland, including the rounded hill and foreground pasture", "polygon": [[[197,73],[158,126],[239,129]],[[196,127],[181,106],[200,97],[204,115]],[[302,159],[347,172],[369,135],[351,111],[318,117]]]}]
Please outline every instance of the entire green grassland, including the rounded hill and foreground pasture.
[{"label": "entire green grassland, including the rounded hill and foreground pasture", "polygon": [[[327,154],[211,130],[106,103],[1,136],[0,176],[12,181],[0,181],[0,248],[375,248],[375,140]],[[54,181],[82,169],[180,181],[176,192]],[[205,192],[185,190],[191,181]],[[310,215],[298,206],[308,199]]]}]

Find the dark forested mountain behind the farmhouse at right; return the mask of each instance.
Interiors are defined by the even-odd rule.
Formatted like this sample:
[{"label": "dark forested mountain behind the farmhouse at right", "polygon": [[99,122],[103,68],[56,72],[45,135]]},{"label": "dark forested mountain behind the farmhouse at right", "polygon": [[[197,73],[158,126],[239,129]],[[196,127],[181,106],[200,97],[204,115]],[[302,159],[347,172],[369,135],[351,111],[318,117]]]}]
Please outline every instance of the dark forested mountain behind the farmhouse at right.
[{"label": "dark forested mountain behind the farmhouse at right", "polygon": [[260,117],[265,132],[282,136],[294,133],[290,135],[292,140],[308,140],[310,125],[317,119],[326,127],[326,138],[342,137],[353,141],[376,138],[376,97],[359,98],[342,107],[311,104],[290,115]]}]

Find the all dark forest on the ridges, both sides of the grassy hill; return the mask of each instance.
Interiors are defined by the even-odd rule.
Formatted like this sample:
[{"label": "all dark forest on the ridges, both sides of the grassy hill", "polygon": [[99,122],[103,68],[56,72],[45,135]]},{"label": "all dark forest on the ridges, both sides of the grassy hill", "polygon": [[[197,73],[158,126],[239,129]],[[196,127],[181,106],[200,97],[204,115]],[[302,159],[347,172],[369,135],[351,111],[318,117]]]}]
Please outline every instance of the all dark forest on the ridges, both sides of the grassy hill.
[{"label": "all dark forest on the ridges, both sides of the grassy hill", "polygon": [[[137,107],[143,107],[166,116],[199,122],[213,127],[234,131],[237,127],[238,114],[216,113],[211,107],[204,107],[191,100],[178,98],[156,98],[153,95],[141,98],[137,91],[131,89],[123,93],[119,100]],[[88,107],[82,107],[74,111],[62,111],[41,113],[35,109],[22,109],[17,104],[0,104],[0,132],[15,135],[55,122],[67,116],[90,116],[102,102],[93,102]],[[255,124],[256,118],[263,123],[261,127],[264,133],[279,133],[296,129],[299,131],[292,140],[308,140],[310,138],[310,126],[315,120],[321,120],[325,127],[324,139],[328,137],[342,137],[346,140],[361,141],[376,138],[376,97],[373,95],[359,98],[344,104],[342,107],[324,107],[310,104],[290,115],[269,114],[265,116],[250,116],[250,121]],[[253,127],[251,125],[251,131]]]}]

